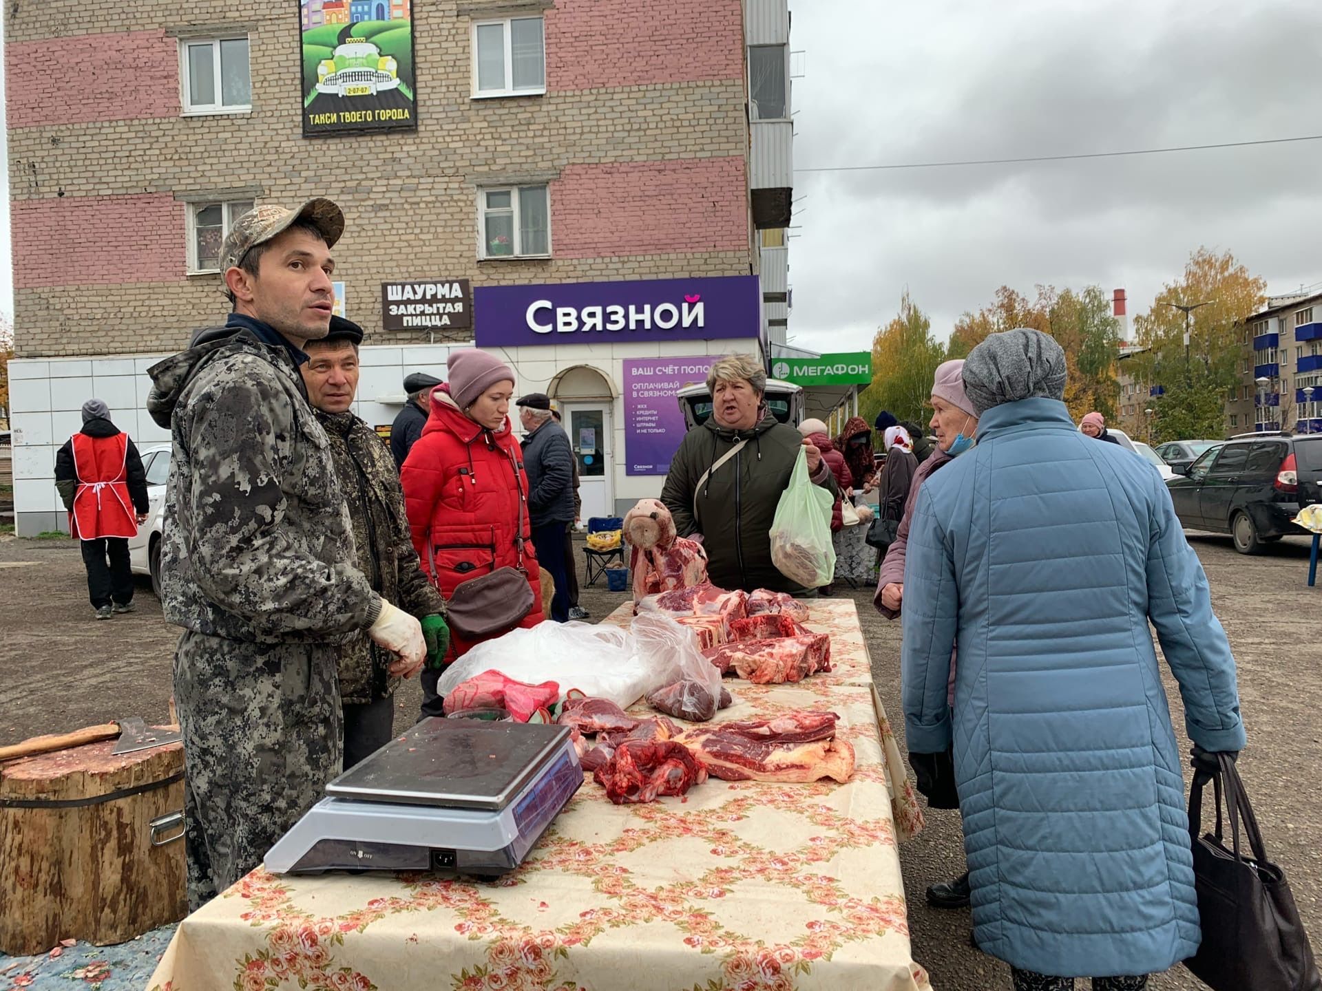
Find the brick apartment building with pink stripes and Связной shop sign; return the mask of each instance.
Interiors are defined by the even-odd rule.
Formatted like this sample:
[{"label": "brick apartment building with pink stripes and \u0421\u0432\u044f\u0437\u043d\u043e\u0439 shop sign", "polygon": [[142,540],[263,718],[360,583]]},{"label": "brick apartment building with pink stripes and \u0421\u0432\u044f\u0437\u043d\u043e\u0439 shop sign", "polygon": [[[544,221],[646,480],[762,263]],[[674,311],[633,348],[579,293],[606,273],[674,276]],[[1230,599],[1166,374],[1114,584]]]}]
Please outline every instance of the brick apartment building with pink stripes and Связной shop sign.
[{"label": "brick apartment building with pink stripes and \u0421\u0432\u044f\u0437\u043d\u043e\u0439 shop sign", "polygon": [[788,42],[787,0],[7,5],[19,532],[62,526],[89,396],[168,443],[145,369],[223,321],[230,223],[311,196],[348,219],[360,415],[497,348],[563,407],[584,515],[654,494],[657,396],[784,342]]}]

